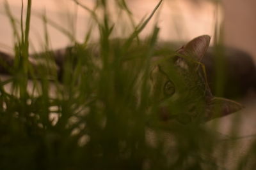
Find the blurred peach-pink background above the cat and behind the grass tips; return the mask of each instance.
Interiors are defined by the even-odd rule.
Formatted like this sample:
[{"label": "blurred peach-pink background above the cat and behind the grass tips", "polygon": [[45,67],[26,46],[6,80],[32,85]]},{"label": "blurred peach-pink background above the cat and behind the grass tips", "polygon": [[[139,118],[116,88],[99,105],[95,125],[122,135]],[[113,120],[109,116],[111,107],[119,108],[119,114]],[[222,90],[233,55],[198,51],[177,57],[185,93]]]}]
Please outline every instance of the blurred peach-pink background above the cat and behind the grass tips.
[{"label": "blurred peach-pink background above the cat and behind the grass tips", "polygon": [[[9,51],[13,45],[12,27],[6,17],[4,1],[0,0],[0,50]],[[20,19],[21,1],[7,0],[12,13]],[[93,7],[93,0],[79,1],[82,4]],[[136,21],[150,14],[154,9],[157,0],[129,0],[127,5],[134,14]],[[26,6],[26,1],[24,1]],[[254,0],[165,0],[161,5],[157,24],[161,28],[159,37],[166,41],[188,41],[201,34],[209,34],[214,38],[223,33],[224,42],[228,46],[242,49],[251,55],[256,61],[256,1]],[[49,20],[56,24],[72,30],[78,41],[82,41],[88,29],[88,13],[77,7],[73,1],[68,0],[45,0],[32,2],[33,15],[31,17],[31,50],[40,51],[43,42],[43,22],[39,14],[45,13]],[[24,8],[26,11],[26,8]],[[24,16],[26,17],[26,16]],[[72,21],[72,18],[76,18]],[[118,17],[116,18],[118,20]],[[71,23],[71,24],[70,24]],[[70,27],[71,25],[71,27]],[[154,25],[154,20],[142,32],[147,36],[147,31]],[[73,26],[73,27],[72,27]],[[221,27],[223,26],[223,30]],[[49,26],[49,37],[52,48],[67,46],[70,42],[60,31]],[[120,33],[122,34],[122,32]],[[123,35],[123,34],[122,34]],[[97,34],[94,34],[97,38]]]}]

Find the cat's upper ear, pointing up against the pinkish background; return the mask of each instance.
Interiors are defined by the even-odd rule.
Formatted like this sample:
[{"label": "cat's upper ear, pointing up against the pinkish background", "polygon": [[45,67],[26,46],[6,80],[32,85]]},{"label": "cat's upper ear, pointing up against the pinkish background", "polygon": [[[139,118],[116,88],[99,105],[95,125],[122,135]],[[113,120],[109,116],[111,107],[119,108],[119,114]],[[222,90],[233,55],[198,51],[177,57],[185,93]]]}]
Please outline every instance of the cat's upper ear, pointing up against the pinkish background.
[{"label": "cat's upper ear, pointing up against the pinkish background", "polygon": [[195,59],[200,62],[205,52],[207,52],[210,40],[211,37],[208,35],[198,36],[182,46],[177,52],[195,57]]}]

